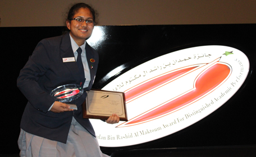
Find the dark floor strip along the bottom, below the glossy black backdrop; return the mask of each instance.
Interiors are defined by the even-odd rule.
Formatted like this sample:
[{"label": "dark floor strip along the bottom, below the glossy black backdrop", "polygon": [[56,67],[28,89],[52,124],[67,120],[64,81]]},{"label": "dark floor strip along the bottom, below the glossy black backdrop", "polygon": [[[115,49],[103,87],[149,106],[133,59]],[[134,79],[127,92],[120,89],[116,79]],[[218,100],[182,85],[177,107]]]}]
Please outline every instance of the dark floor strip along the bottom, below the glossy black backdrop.
[{"label": "dark floor strip along the bottom, below the glossy black backdrop", "polygon": [[[200,148],[166,148],[166,149],[134,149],[127,151],[116,151],[111,157],[136,157],[136,156],[173,156],[173,157],[255,157],[256,145],[249,146],[212,146]],[[19,157],[19,154],[0,154],[0,157]]]}]

